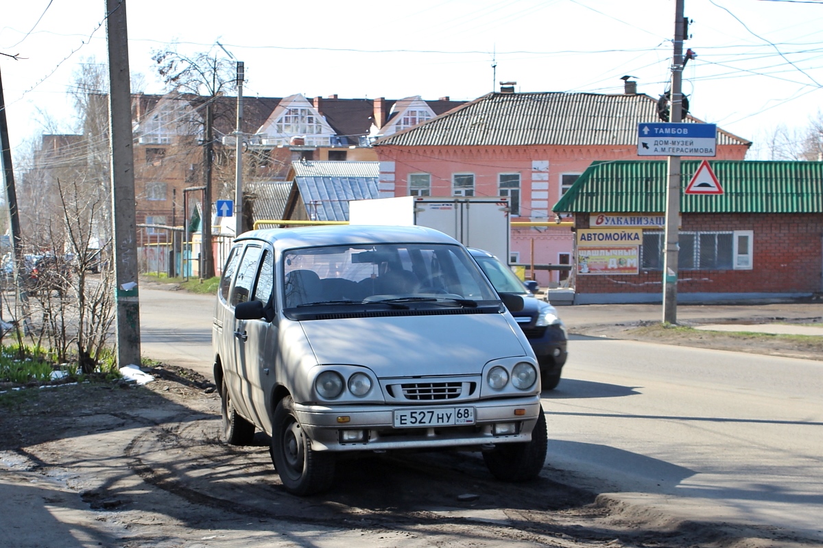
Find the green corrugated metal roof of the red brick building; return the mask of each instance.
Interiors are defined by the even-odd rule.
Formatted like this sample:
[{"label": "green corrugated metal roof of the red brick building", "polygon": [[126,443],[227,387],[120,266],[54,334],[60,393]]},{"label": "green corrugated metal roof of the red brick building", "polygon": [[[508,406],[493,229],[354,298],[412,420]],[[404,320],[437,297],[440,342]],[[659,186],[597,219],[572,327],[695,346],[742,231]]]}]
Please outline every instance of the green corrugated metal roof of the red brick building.
[{"label": "green corrugated metal roof of the red brick building", "polygon": [[[700,160],[681,162],[683,213],[823,213],[823,162],[709,161],[722,195],[684,195]],[[595,162],[552,208],[566,213],[666,210],[664,160]]]}]

